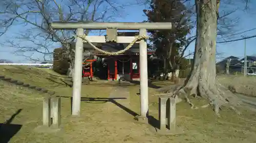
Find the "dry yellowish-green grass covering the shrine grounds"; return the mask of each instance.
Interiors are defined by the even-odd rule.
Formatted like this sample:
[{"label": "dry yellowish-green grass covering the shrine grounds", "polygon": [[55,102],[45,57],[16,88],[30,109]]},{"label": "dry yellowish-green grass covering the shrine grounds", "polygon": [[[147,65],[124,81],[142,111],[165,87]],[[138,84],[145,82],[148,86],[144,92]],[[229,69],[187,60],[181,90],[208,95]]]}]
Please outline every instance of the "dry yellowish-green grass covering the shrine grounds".
[{"label": "dry yellowish-green grass covering the shrine grounds", "polygon": [[[1,71],[1,70],[0,70]],[[41,77],[29,76],[30,72],[39,72]],[[8,70],[1,74],[9,74]],[[41,86],[50,87],[55,82],[47,80],[48,71],[41,69],[24,70],[27,74],[16,76],[20,80],[34,82]],[[30,77],[30,79],[26,78]],[[36,79],[34,81],[34,79]],[[51,84],[51,86],[49,85]],[[153,84],[163,87],[171,84],[168,81],[154,82]],[[34,128],[41,124],[41,99],[43,95],[20,89],[4,81],[0,81],[0,121],[8,120],[18,109],[22,109],[11,124],[23,125],[10,142],[253,142],[256,139],[255,113],[243,111],[242,116],[234,115],[233,111],[224,109],[221,118],[217,118],[211,108],[192,110],[187,103],[181,102],[177,105],[177,126],[184,129],[185,133],[180,135],[160,136],[150,131],[151,125],[140,124],[133,120],[133,116],[112,102],[99,98],[108,98],[117,84],[88,84],[82,85],[81,117],[73,119],[70,117],[70,96],[72,89],[65,86],[54,88],[61,98],[61,123],[59,132],[36,133]],[[116,100],[125,104],[133,112],[139,113],[140,102],[139,85],[126,85],[130,91],[129,100]],[[158,119],[158,98],[154,88],[150,93],[150,115]],[[122,93],[120,93],[122,94]],[[98,98],[88,100],[88,98]],[[203,101],[193,100],[196,104]],[[2,136],[3,137],[3,136]],[[0,134],[1,138],[1,134]],[[1,142],[1,141],[0,141]],[[5,142],[3,142],[5,143]]]}]

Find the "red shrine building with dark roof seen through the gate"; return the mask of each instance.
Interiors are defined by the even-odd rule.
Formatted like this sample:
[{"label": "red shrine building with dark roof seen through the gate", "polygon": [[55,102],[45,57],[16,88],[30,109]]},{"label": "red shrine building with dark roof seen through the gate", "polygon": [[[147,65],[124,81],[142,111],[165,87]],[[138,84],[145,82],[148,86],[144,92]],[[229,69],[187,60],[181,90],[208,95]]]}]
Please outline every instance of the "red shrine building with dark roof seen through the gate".
[{"label": "red shrine building with dark roof seen through the gate", "polygon": [[[108,51],[117,52],[124,49],[129,43],[102,43],[96,44],[98,48]],[[91,49],[91,45],[84,43],[84,49]],[[94,64],[97,61],[101,61],[104,64],[103,69],[100,74],[106,74],[105,79],[108,80],[118,80],[121,76],[129,80],[139,80],[140,79],[140,66],[139,66],[139,43],[135,43],[133,47],[126,50],[124,53],[119,55],[106,55],[100,53],[99,51],[92,51],[94,57],[89,58],[83,64],[83,77],[93,77],[95,73]],[[154,53],[154,51],[148,50],[148,58]],[[97,60],[96,60],[97,59]],[[98,75],[99,76],[99,75]]]}]

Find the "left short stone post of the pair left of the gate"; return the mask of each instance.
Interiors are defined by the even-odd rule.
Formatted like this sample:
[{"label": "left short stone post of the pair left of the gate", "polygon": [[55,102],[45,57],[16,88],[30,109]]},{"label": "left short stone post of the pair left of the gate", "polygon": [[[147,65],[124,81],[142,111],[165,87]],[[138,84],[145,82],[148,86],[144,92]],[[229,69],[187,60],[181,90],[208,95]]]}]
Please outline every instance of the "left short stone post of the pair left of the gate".
[{"label": "left short stone post of the pair left of the gate", "polygon": [[44,97],[42,100],[42,125],[46,127],[50,127],[51,125],[50,100],[50,97]]}]

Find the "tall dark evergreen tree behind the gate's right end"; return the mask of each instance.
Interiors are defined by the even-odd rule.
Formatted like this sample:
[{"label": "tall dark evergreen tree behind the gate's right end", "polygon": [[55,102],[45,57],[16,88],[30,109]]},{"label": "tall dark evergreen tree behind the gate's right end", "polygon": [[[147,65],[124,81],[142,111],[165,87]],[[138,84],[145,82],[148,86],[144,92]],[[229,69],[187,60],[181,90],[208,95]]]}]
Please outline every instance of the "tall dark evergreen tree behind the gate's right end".
[{"label": "tall dark evergreen tree behind the gate's right end", "polygon": [[[190,11],[180,0],[155,0],[149,10],[144,10],[147,22],[171,22],[172,30],[148,31],[152,48],[160,59],[166,59],[166,68],[173,70],[180,65],[179,57],[189,34]],[[170,63],[168,62],[170,61]]]}]

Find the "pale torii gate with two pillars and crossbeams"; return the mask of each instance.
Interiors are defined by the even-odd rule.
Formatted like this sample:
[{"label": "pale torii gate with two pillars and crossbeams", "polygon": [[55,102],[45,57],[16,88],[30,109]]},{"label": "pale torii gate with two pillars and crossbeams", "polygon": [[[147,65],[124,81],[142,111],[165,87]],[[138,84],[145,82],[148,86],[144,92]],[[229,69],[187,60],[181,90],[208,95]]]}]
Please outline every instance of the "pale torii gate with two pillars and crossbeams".
[{"label": "pale torii gate with two pillars and crossbeams", "polygon": [[[117,36],[117,30],[139,30],[140,36],[146,35],[146,30],[170,30],[170,22],[53,22],[51,27],[55,30],[76,30],[75,67],[73,83],[72,116],[80,115],[81,82],[82,82],[82,53],[85,30],[107,30],[107,38],[104,36],[86,36],[91,43],[105,43],[116,41],[117,43],[131,43],[135,37]],[[140,117],[147,118],[148,114],[148,77],[147,77],[147,44],[146,40],[140,42]]]}]

